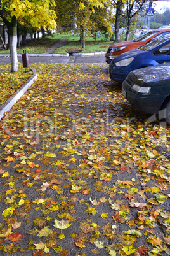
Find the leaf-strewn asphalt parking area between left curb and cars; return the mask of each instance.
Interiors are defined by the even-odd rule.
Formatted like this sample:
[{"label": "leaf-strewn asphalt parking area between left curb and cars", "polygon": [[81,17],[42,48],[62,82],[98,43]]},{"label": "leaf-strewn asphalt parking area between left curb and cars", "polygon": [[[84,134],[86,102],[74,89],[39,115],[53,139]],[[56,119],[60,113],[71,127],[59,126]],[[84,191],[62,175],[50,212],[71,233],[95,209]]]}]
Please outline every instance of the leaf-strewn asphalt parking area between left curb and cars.
[{"label": "leaf-strewn asphalt parking area between left curb and cars", "polygon": [[0,254],[170,255],[169,127],[105,64],[32,68],[0,124]]}]

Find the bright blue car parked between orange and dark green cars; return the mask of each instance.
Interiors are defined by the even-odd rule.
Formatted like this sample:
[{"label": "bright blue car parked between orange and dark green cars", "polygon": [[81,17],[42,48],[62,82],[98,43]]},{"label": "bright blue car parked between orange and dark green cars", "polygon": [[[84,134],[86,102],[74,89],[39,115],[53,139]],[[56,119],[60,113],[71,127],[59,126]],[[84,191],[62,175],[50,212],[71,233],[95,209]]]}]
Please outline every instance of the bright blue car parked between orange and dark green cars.
[{"label": "bright blue car parked between orange and dark green cars", "polygon": [[164,62],[170,62],[169,34],[115,57],[109,66],[110,78],[122,83],[129,72]]}]

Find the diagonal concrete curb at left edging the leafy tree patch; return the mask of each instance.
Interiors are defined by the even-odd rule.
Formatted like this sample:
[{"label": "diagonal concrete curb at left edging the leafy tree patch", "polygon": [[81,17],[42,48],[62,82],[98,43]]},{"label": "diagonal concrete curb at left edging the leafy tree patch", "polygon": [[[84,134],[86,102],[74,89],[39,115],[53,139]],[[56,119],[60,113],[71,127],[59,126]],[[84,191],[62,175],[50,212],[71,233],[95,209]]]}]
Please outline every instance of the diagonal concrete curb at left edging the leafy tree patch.
[{"label": "diagonal concrete curb at left edging the leafy tree patch", "polygon": [[13,94],[13,96],[11,96],[5,103],[3,103],[3,105],[0,108],[0,120],[1,118],[4,116],[4,113],[11,110],[11,108],[13,107],[13,105],[16,103],[16,101],[18,101],[18,99],[20,99],[20,97],[23,96],[23,94],[25,94],[25,92],[27,91],[27,89],[30,87],[30,85],[32,85],[32,83],[34,83],[34,81],[37,79],[37,73],[36,70],[33,68],[30,68],[30,70],[32,70],[33,72],[33,76],[29,78],[29,80],[24,83],[20,89],[18,89],[15,94]]}]

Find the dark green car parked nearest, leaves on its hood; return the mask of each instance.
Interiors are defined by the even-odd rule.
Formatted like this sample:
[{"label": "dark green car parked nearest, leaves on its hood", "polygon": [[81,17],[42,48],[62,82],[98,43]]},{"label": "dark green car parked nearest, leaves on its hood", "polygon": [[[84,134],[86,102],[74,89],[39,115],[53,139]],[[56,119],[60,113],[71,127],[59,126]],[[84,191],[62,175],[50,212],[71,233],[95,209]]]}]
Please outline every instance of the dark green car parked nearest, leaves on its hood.
[{"label": "dark green car parked nearest, leaves on its hood", "polygon": [[162,110],[170,125],[170,63],[131,71],[122,83],[122,94],[136,110],[150,114]]}]

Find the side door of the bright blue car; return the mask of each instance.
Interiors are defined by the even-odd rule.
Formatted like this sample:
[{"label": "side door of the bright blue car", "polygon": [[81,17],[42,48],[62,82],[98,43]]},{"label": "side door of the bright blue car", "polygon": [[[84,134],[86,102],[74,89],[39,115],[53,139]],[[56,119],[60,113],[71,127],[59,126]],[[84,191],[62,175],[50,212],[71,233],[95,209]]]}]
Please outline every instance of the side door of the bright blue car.
[{"label": "side door of the bright blue car", "polygon": [[164,46],[160,46],[157,50],[152,52],[154,55],[154,60],[157,61],[159,64],[164,62],[170,62],[170,43],[167,43]]}]

